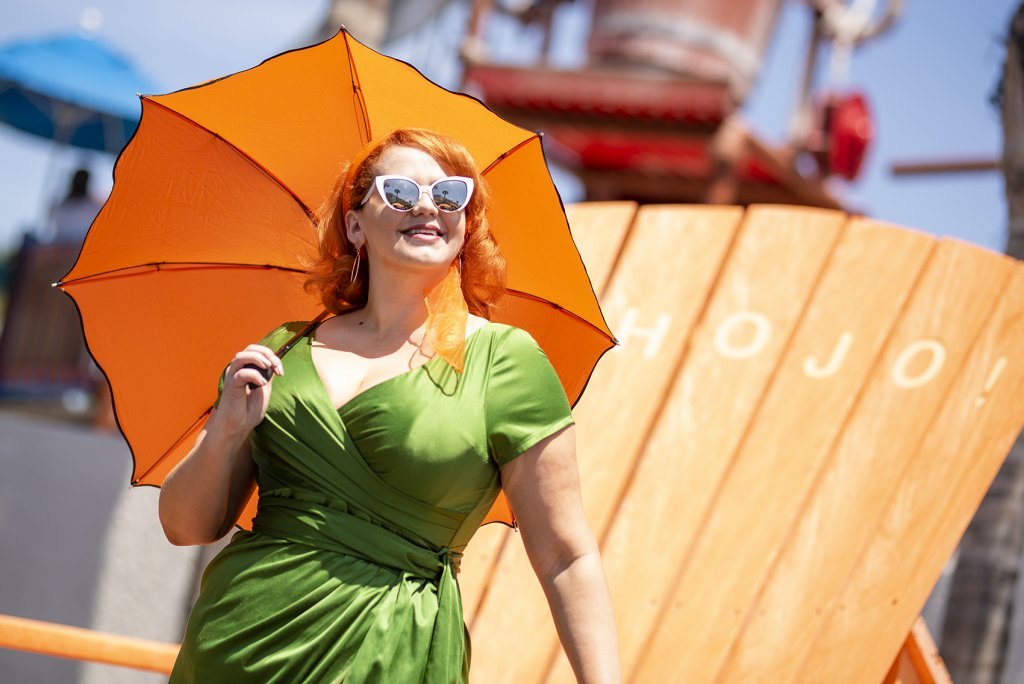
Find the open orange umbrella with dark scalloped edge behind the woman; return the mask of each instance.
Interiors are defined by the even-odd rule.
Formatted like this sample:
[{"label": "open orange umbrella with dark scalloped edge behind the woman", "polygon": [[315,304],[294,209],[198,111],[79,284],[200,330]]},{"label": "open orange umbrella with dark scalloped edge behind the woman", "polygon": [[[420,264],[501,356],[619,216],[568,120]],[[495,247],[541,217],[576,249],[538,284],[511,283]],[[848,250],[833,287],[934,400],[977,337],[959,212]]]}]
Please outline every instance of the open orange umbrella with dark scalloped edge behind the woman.
[{"label": "open orange umbrella with dark scalloped edge behind the woman", "polygon": [[[133,484],[159,485],[187,454],[237,350],[319,313],[302,288],[311,208],[373,135],[402,127],[458,137],[483,170],[511,295],[497,319],[529,331],[579,398],[612,338],[540,136],[342,30],[245,72],[142,96],[111,198],[59,283],[111,384]],[[503,501],[492,515],[510,520]]]}]

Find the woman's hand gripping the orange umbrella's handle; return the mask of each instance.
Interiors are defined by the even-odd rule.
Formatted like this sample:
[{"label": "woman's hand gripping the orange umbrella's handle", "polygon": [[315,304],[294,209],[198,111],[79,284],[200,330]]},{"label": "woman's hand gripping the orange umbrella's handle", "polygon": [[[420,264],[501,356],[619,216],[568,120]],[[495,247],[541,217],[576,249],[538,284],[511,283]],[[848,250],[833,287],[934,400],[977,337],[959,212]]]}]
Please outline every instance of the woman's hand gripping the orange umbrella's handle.
[{"label": "woman's hand gripping the orange umbrella's handle", "polygon": [[[279,376],[285,373],[278,355],[260,344],[250,344],[234,354],[224,371],[224,389],[216,412],[217,427],[229,434],[248,434],[263,420],[270,401],[270,380],[260,370],[269,370]],[[255,388],[251,389],[250,385]]]}]

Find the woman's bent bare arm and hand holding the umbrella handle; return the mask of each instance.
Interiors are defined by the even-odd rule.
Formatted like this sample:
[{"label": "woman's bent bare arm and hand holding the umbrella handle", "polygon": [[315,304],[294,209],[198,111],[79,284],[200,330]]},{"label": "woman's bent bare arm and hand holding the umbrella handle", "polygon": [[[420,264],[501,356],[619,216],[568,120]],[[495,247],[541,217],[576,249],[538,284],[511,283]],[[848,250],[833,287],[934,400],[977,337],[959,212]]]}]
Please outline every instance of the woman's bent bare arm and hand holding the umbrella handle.
[{"label": "woman's bent bare arm and hand holding the umbrella handle", "polygon": [[[219,409],[160,490],[160,522],[171,544],[216,542],[230,530],[256,486],[249,432],[263,420],[270,383],[246,365],[283,373],[273,351],[255,344],[227,367]],[[256,389],[248,389],[249,383]]]}]

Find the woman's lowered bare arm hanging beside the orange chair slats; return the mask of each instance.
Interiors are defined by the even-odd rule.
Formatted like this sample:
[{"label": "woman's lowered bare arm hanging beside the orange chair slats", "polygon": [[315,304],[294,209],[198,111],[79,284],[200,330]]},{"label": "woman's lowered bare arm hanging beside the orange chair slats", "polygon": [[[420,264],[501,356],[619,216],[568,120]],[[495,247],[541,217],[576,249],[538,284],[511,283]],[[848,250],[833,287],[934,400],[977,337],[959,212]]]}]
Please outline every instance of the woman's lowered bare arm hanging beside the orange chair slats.
[{"label": "woman's lowered bare arm hanging beside the orange chair slats", "polygon": [[614,613],[580,496],[574,428],[505,465],[502,486],[577,679],[620,682]]}]

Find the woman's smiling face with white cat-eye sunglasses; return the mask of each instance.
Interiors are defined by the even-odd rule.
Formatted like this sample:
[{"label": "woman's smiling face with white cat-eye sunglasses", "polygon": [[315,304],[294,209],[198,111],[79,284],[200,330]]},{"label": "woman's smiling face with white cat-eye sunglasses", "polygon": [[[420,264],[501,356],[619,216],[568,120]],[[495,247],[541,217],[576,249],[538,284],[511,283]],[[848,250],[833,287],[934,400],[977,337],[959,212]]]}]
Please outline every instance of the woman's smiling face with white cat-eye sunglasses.
[{"label": "woman's smiling face with white cat-eye sunglasses", "polygon": [[[408,176],[421,185],[450,175],[427,153],[402,146],[384,151],[374,172]],[[349,210],[345,215],[345,228],[352,245],[366,246],[373,271],[382,266],[443,271],[462,250],[466,212],[440,212],[426,193],[411,211],[395,211],[375,188],[360,209]]]}]

